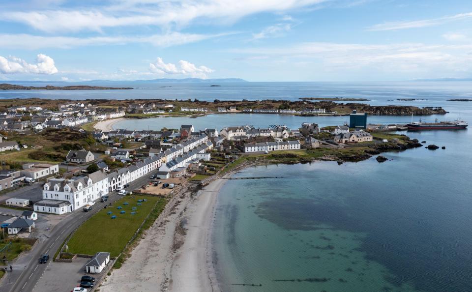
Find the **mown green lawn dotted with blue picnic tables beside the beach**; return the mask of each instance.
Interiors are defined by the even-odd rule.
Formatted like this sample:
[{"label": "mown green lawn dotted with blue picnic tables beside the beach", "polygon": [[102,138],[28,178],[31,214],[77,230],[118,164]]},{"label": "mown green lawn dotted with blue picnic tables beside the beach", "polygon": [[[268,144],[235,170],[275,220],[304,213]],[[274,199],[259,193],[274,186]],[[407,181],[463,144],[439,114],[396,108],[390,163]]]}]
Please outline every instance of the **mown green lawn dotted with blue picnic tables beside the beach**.
[{"label": "mown green lawn dotted with blue picnic tables beside the beach", "polygon": [[[137,206],[137,201],[142,199],[147,199],[148,202],[143,202],[141,206]],[[129,204],[124,205],[125,202]],[[157,211],[160,213],[165,204],[166,200],[162,198],[126,196],[112,206],[100,210],[84,222],[67,243],[69,252],[94,255],[103,251],[110,252],[112,257],[117,257],[154,206],[156,205]],[[126,213],[120,214],[121,210],[117,209],[118,206],[121,206],[121,210],[126,211]],[[132,207],[137,207],[135,215],[131,215]],[[117,218],[111,219],[112,215],[107,214],[109,211],[112,211],[112,215],[116,215]]]}]

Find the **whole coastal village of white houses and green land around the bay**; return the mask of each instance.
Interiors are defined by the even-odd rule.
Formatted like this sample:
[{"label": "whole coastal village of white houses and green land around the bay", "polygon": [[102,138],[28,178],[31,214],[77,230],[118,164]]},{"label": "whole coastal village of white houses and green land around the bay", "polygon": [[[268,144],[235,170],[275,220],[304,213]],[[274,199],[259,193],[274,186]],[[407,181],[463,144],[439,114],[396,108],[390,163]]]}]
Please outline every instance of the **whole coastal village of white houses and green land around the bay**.
[{"label": "whole coastal village of white houses and green land around the bay", "polygon": [[[100,123],[116,118],[173,112],[207,114],[208,109],[177,108],[173,103],[133,103],[124,108],[77,102],[54,109],[11,106],[3,112],[2,246],[25,247],[4,259],[4,263],[15,263],[19,254],[26,259],[41,254],[43,258],[47,256],[45,263],[53,261],[55,273],[46,272],[38,279],[38,285],[52,289],[48,279],[59,273],[70,281],[56,283],[59,285],[56,288],[74,287],[75,278],[85,272],[90,275],[89,281],[85,281],[88,288],[97,289],[110,271],[118,269],[127,258],[125,253],[132,249],[131,242],[142,232],[140,226],[149,227],[160,212],[176,208],[186,192],[219,177],[260,163],[321,159],[342,164],[386,150],[422,146],[405,135],[388,134],[402,125],[370,125],[367,114],[355,110],[350,114],[349,124],[328,127],[305,122],[297,129],[246,124],[220,129],[196,129],[191,124],[161,130],[100,128]],[[337,114],[316,107],[302,110],[219,107],[217,112]],[[377,160],[383,162],[379,157],[382,156]],[[61,225],[58,219],[73,224]],[[119,232],[117,240],[117,232],[125,228],[123,220],[128,222],[129,231]],[[98,229],[102,229],[101,234],[92,232]],[[69,235],[62,241],[44,239],[62,238],[63,233]],[[47,246],[50,248],[44,253]],[[81,267],[84,272],[70,272]],[[4,277],[15,277],[11,269],[2,272]]]}]

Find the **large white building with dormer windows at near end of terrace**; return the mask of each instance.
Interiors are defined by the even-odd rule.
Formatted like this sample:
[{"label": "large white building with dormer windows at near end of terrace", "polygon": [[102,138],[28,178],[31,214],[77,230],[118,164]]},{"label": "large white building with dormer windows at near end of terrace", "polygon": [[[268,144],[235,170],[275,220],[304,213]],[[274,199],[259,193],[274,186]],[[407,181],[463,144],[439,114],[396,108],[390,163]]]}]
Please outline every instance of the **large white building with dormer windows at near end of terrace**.
[{"label": "large white building with dormer windows at near end of terrace", "polygon": [[81,209],[108,194],[108,177],[103,171],[72,179],[55,178],[43,185],[43,200],[33,205],[34,211],[63,214]]}]

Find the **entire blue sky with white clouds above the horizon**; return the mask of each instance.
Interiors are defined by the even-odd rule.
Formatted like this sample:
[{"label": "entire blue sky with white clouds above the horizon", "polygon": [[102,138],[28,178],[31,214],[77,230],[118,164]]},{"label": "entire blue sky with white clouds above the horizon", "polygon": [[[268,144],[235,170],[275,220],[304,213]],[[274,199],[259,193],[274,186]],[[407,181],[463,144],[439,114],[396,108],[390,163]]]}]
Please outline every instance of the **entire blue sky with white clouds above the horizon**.
[{"label": "entire blue sky with white clouds above the horizon", "polygon": [[472,78],[472,1],[0,1],[0,80],[188,77]]}]

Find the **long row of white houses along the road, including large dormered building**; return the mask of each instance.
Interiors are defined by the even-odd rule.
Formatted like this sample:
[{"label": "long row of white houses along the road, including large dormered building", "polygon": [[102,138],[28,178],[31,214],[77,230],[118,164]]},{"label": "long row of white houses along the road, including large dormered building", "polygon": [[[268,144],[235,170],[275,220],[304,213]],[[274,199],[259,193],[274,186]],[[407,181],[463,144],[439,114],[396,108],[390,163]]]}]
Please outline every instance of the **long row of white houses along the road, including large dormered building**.
[{"label": "long row of white houses along the road, including large dormered building", "polygon": [[[159,170],[159,172],[171,172],[174,169],[161,167],[168,162],[178,161],[179,167],[186,167],[188,161],[194,159],[209,160],[209,153],[205,153],[212,144],[208,136],[202,134],[192,138],[176,147],[148,157],[135,165],[119,169],[107,174],[100,170],[89,175],[81,175],[73,178],[50,179],[43,186],[43,200],[33,205],[35,211],[64,214],[80,210],[92,201],[121,188],[143,175]],[[187,163],[187,164],[186,164]],[[166,175],[169,177],[169,175]]]}]

